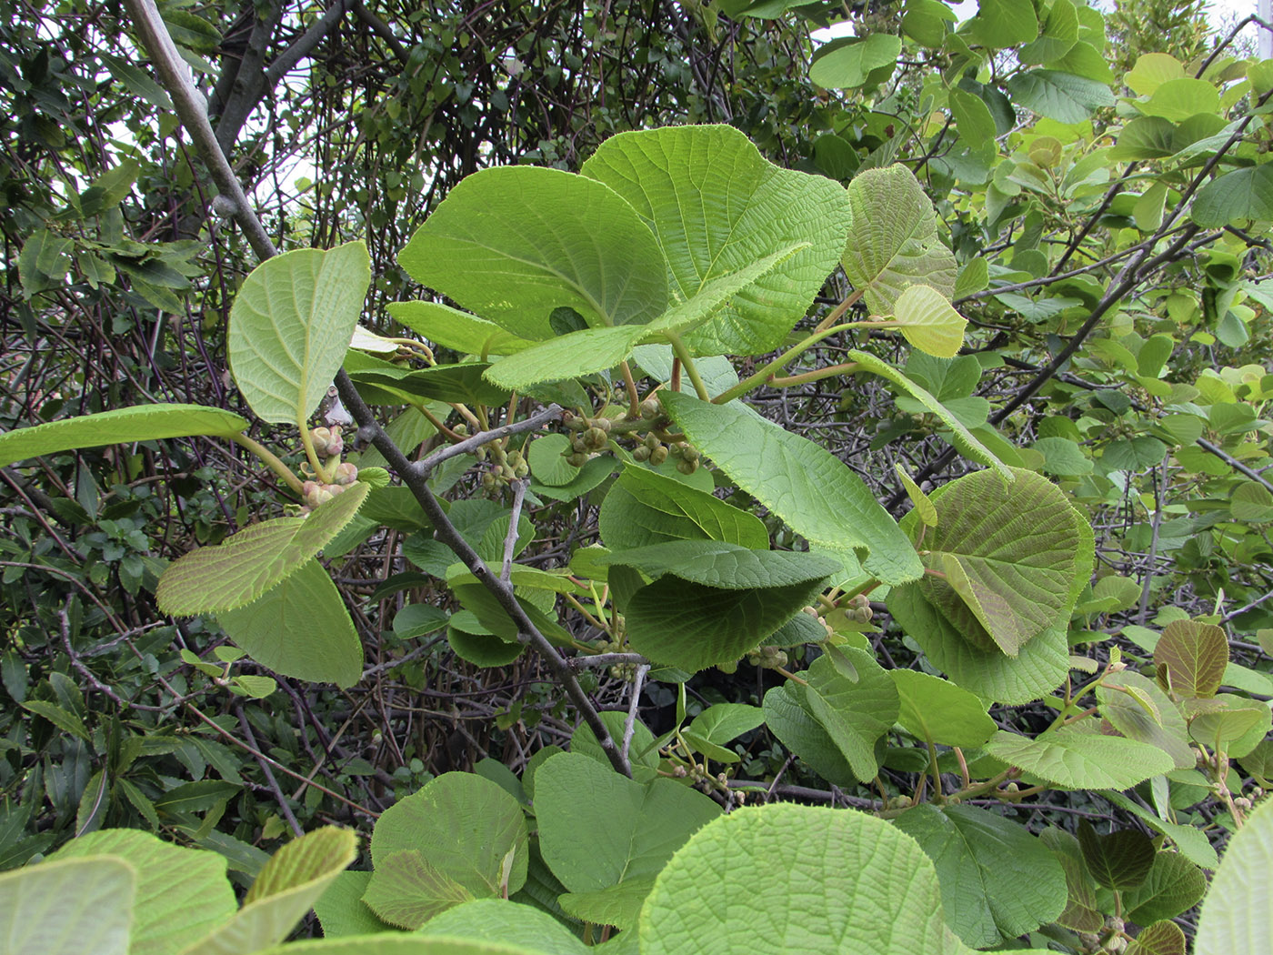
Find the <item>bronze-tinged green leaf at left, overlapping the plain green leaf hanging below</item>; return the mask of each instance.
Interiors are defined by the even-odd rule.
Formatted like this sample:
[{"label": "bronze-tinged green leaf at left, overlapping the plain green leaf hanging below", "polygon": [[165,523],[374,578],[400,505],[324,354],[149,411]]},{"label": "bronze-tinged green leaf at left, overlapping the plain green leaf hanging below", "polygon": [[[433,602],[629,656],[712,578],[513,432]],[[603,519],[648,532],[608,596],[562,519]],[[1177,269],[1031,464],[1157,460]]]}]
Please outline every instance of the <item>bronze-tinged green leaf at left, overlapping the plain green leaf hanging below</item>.
[{"label": "bronze-tinged green leaf at left, overlapping the plain green leaf hanging below", "polygon": [[193,616],[247,606],[299,570],[335,537],[358,513],[369,490],[367,484],[351,484],[306,517],[264,521],[224,544],[192,550],[169,564],[159,578],[159,609],[173,616]]}]

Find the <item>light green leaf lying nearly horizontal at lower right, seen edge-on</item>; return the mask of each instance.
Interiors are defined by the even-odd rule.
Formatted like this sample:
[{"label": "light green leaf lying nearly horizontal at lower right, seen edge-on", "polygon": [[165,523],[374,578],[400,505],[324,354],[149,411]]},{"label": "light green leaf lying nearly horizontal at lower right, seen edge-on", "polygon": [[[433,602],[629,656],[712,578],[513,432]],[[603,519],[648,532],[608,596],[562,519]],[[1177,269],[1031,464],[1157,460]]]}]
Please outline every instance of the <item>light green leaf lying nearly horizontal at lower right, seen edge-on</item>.
[{"label": "light green leaf lying nearly horizontal at lower right, seen edge-on", "polygon": [[1059,789],[1129,789],[1174,768],[1171,756],[1157,746],[1068,728],[1036,740],[1001,730],[985,749]]}]

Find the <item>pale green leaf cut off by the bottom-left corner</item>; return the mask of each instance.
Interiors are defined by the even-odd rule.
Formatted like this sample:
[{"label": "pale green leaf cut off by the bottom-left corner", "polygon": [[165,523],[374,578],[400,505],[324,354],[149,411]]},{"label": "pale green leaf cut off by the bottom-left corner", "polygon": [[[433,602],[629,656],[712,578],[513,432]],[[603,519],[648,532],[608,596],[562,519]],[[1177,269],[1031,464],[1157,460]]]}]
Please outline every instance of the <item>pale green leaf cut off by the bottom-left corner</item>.
[{"label": "pale green leaf cut off by the bottom-left corner", "polygon": [[129,955],[136,879],[109,856],[0,872],[5,955]]}]

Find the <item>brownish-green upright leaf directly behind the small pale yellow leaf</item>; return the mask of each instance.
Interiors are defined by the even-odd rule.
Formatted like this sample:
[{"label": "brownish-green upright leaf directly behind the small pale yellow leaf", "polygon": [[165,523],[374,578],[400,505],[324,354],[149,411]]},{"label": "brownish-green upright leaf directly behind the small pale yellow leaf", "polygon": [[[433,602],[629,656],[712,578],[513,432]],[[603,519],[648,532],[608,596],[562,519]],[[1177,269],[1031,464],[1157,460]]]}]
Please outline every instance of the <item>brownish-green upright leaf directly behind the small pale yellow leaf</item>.
[{"label": "brownish-green upright leaf directly behind the small pale yellow leaf", "polygon": [[844,271],[872,315],[892,315],[909,285],[955,292],[955,255],[937,237],[937,213],[905,166],[867,169],[848,188],[853,224]]}]

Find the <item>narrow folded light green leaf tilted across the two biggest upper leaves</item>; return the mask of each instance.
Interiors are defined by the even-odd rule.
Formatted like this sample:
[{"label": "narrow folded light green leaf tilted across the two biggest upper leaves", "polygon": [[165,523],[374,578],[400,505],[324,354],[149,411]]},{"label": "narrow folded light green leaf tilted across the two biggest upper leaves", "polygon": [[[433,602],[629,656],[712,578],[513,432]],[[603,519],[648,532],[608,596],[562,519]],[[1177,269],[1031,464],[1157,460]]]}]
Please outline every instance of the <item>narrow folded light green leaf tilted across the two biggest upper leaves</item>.
[{"label": "narrow folded light green leaf tilted across the two biggest upper leaves", "polygon": [[582,329],[533,345],[493,364],[486,378],[505,388],[524,390],[541,382],[565,381],[614,368],[638,345],[670,341],[668,334],[677,335],[701,326],[805,248],[808,248],[807,242],[779,250],[736,272],[717,276],[693,298],[677,302],[647,325]]}]

